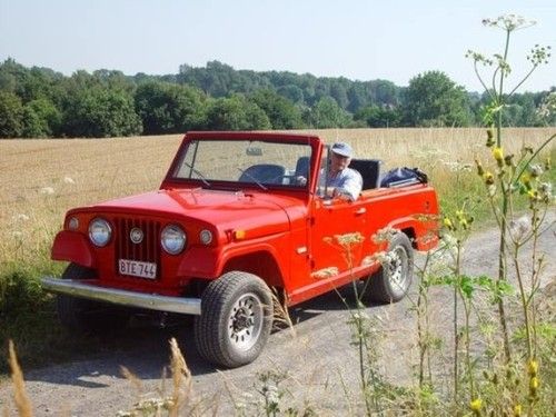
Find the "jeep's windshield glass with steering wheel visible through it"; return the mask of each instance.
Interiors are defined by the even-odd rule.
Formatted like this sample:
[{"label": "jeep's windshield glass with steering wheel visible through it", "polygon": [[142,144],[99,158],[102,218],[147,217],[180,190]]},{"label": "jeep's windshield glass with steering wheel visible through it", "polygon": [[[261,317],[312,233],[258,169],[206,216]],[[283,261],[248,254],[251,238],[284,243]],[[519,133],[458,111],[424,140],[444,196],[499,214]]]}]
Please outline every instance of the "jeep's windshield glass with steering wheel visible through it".
[{"label": "jeep's windshield glass with steering wheel visible through it", "polygon": [[[173,171],[173,179],[193,179],[201,187],[236,182],[267,189],[306,186],[311,147],[261,140],[191,140]],[[302,177],[302,178],[301,178]]]}]

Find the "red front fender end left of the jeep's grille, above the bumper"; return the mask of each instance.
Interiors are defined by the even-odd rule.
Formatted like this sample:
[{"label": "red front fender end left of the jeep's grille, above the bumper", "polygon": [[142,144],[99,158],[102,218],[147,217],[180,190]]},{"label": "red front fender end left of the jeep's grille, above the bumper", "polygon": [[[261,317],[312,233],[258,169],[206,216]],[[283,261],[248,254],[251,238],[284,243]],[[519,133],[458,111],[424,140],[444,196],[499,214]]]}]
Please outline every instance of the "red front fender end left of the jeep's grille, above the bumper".
[{"label": "red front fender end left of the jeep's grille, above the bumper", "polygon": [[97,266],[89,240],[76,231],[62,230],[56,235],[50,258],[76,262],[89,268]]}]

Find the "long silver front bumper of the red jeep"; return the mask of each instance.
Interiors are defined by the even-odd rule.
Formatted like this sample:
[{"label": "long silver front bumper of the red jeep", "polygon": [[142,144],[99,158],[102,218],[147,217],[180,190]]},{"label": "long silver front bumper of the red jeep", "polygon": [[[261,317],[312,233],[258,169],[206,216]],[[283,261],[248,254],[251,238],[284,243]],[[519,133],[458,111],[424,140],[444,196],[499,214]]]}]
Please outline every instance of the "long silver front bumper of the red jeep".
[{"label": "long silver front bumper of the red jeep", "polygon": [[155,294],[127,291],[123,289],[98,287],[81,280],[52,277],[43,277],[41,282],[42,288],[47,291],[71,297],[112,302],[127,307],[147,308],[157,311],[181,312],[196,316],[201,314],[200,298],[168,297]]}]

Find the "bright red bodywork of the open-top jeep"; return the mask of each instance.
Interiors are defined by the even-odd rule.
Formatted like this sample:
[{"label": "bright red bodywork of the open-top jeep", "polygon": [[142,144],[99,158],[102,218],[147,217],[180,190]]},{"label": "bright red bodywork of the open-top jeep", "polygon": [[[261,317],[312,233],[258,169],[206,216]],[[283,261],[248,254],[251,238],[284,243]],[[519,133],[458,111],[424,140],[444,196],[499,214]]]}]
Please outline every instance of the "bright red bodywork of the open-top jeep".
[{"label": "bright red bodywork of the open-top jeep", "polygon": [[[173,179],[179,155],[189,141],[212,138],[309,145],[314,157],[307,188],[234,188],[216,183],[206,189],[199,180]],[[379,229],[405,231],[415,238],[419,250],[436,246],[436,222],[416,218],[438,214],[430,187],[378,188],[364,191],[354,202],[325,202],[315,196],[322,149],[322,141],[312,136],[188,133],[160,190],[70,210],[64,230],[56,237],[52,258],[97,269],[96,284],[100,286],[171,296],[185,294],[193,279],[212,280],[228,270],[246,270],[270,286],[284,288],[292,305],[376,270],[378,265],[370,261],[371,256],[385,250],[385,245],[373,241]],[[112,229],[112,238],[101,248],[88,237],[88,225],[96,217],[106,219]],[[79,220],[75,230],[69,230],[70,218]],[[187,235],[187,246],[179,255],[160,248],[160,232],[168,225],[179,225]],[[145,230],[145,242],[129,242],[132,228]],[[212,234],[209,244],[201,241],[201,230]],[[360,232],[364,241],[351,250],[353,262],[348,266],[345,251],[329,238],[351,232]],[[120,275],[118,261],[128,258],[156,264],[156,279]],[[322,276],[330,270],[334,274]]]}]

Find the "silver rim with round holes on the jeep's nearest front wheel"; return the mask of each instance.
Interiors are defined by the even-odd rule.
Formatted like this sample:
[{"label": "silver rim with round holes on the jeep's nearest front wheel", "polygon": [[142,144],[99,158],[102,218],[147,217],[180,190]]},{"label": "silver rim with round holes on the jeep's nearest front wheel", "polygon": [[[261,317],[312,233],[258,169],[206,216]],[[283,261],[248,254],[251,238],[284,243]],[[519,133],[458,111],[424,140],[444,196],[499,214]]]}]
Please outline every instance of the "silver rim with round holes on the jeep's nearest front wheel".
[{"label": "silver rim with round holes on the jeep's nearest front wheel", "polygon": [[239,297],[228,317],[228,337],[239,350],[250,349],[259,339],[264,321],[264,308],[260,298],[252,292]]}]

